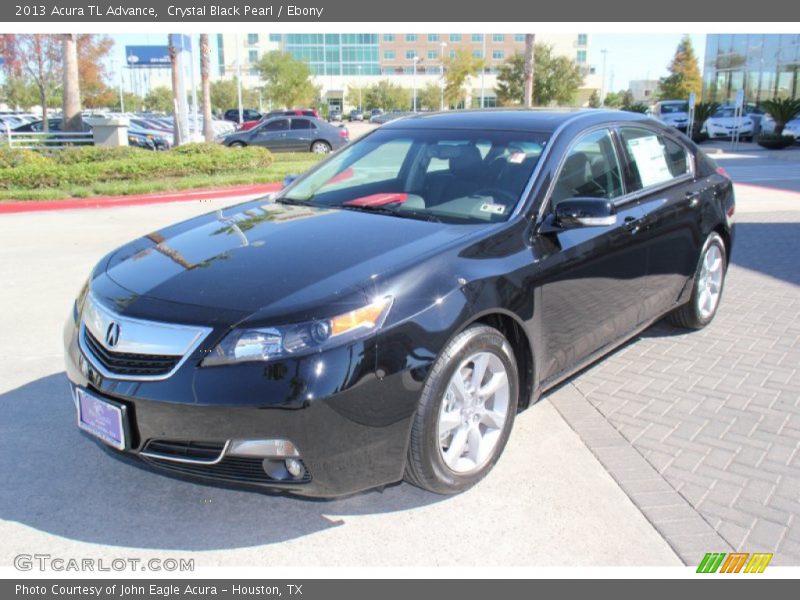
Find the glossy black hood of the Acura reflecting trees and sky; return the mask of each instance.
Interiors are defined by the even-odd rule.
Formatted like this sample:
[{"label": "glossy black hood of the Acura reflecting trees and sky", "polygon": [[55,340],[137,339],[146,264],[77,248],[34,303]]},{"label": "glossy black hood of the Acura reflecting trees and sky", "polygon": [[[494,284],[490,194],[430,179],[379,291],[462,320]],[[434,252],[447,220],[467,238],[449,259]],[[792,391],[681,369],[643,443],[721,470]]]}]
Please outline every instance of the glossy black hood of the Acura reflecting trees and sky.
[{"label": "glossy black hood of the Acura reflecting trees and sky", "polygon": [[105,273],[157,300],[305,314],[476,227],[260,199],[135,240],[109,256]]}]

